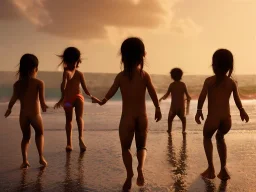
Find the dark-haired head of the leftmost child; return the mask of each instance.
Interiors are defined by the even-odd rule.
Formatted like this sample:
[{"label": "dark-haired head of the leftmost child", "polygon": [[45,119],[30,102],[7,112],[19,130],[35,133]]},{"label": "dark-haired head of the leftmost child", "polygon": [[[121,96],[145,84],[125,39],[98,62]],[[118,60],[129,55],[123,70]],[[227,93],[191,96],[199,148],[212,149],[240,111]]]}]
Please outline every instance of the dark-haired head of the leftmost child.
[{"label": "dark-haired head of the leftmost child", "polygon": [[17,75],[19,79],[32,77],[38,70],[38,59],[33,54],[25,54],[20,59],[20,66]]}]

